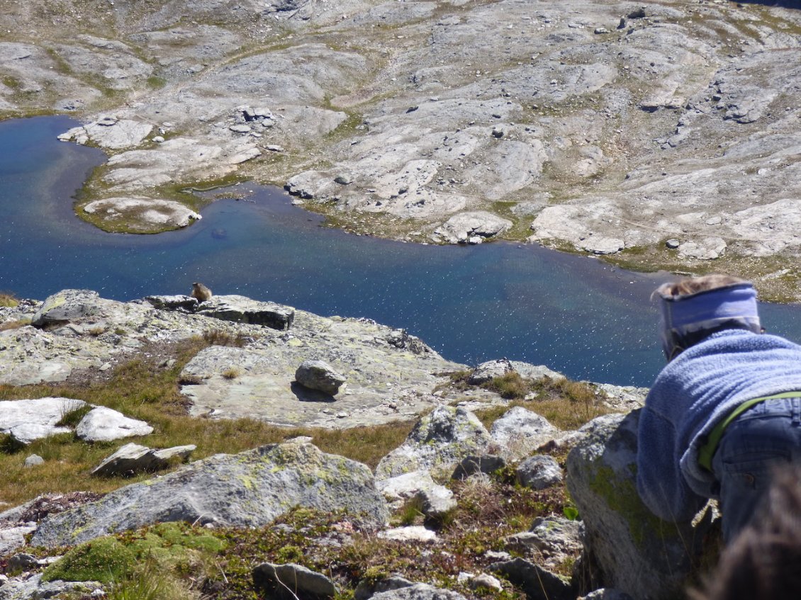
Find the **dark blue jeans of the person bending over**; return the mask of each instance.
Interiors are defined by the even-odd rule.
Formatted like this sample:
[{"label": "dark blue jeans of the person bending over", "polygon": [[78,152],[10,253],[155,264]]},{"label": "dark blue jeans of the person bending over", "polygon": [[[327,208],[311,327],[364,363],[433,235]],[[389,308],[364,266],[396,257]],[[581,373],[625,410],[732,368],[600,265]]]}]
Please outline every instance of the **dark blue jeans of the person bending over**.
[{"label": "dark blue jeans of the person bending over", "polygon": [[801,463],[801,398],[759,402],[727,426],[712,458],[726,542],[759,510],[773,470],[792,462]]}]

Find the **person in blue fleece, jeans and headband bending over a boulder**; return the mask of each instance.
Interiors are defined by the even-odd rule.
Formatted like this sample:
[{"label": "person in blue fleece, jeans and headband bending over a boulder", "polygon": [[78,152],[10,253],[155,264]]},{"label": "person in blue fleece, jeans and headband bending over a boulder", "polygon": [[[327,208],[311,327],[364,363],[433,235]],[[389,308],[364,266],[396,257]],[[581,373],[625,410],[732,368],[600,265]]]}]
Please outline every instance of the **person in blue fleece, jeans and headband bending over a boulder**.
[{"label": "person in blue fleece, jeans and headband bending over a boulder", "polygon": [[657,293],[669,362],[640,415],[638,490],[670,521],[719,498],[731,539],[771,465],[801,462],[801,346],[761,334],[755,290],[742,279],[691,278]]}]

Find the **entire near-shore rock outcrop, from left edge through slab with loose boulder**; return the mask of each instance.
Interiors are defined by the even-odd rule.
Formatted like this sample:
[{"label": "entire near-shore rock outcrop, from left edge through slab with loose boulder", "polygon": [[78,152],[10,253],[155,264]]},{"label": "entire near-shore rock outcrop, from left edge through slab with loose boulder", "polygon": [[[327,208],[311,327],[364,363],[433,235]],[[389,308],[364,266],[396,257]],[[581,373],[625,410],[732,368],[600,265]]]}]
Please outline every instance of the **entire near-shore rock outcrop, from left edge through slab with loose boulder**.
[{"label": "entire near-shore rock outcrop, from left edge through slab with loose boulder", "polygon": [[[15,324],[0,330],[0,383],[10,385],[100,374],[153,343],[204,334],[239,339],[243,346],[211,345],[184,367],[191,414],[288,426],[416,418],[442,401],[433,395],[441,374],[465,368],[405,330],[227,294],[200,303],[183,294],[117,302],[92,290],[62,290],[3,309],[0,322]],[[347,378],[336,404],[330,393],[296,383],[304,361],[325,362]]]}]

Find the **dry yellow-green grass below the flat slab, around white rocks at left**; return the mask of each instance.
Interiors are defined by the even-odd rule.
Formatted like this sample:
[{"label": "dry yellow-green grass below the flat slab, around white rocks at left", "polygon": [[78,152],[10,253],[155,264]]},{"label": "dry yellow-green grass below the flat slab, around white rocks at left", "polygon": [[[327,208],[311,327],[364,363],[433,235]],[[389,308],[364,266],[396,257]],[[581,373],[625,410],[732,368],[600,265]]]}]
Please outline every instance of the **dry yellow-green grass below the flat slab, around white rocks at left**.
[{"label": "dry yellow-green grass below the flat slab, around white rocks at left", "polygon": [[[212,340],[220,342],[222,338],[212,337]],[[179,390],[180,373],[190,358],[210,344],[210,341],[197,337],[170,348],[143,349],[139,354],[143,358],[116,366],[109,378],[98,381],[0,386],[0,400],[54,396],[108,406],[131,418],[143,419],[154,427],[152,434],[135,439],[135,442],[153,448],[195,444],[197,450],[192,454],[193,459],[217,453],[235,454],[308,435],[324,452],[340,454],[374,467],[385,454],[399,446],[412,429],[412,422],[349,430],[318,430],[272,426],[252,418],[192,418],[187,414],[187,399]],[[166,362],[165,358],[169,357],[175,358],[175,362]],[[82,415],[79,411],[70,411],[63,416],[65,422],[71,424]],[[95,466],[127,441],[131,440],[93,444],[82,442],[73,434],[59,434],[32,442],[26,446],[25,452],[18,452],[10,443],[0,443],[0,473],[4,475],[0,478],[0,502],[17,505],[40,494],[74,490],[106,493],[151,477],[149,474],[134,478],[91,476]],[[26,467],[25,457],[29,454],[44,458],[44,464]]]}]

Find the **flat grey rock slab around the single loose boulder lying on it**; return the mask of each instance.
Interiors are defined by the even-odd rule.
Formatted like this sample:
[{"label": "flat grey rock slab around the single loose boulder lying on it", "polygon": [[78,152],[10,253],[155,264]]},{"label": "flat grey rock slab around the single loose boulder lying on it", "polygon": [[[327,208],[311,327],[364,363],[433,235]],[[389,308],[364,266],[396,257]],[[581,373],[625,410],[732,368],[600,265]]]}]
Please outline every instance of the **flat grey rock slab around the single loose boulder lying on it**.
[{"label": "flat grey rock slab around the single loose boulder lying on it", "polygon": [[[249,416],[328,428],[416,418],[441,402],[432,394],[443,381],[435,374],[464,366],[414,339],[399,348],[395,330],[375,322],[298,310],[286,332],[264,328],[243,348],[201,350],[183,369],[181,391],[191,400],[191,414],[212,418]],[[294,383],[306,360],[322,360],[347,378],[336,402]]]}]

